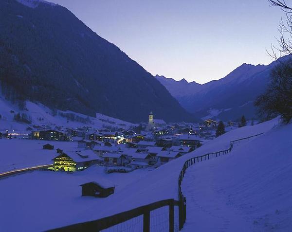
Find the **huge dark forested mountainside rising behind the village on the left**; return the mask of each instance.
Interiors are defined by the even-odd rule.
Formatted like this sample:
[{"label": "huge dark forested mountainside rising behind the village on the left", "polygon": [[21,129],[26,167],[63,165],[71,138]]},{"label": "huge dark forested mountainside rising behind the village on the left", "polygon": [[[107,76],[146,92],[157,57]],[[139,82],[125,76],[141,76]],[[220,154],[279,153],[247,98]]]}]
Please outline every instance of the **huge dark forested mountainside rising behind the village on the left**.
[{"label": "huge dark forested mountainside rising behind the village on the left", "polygon": [[150,110],[192,121],[165,87],[65,7],[44,0],[0,1],[0,82],[5,97],[129,122]]}]

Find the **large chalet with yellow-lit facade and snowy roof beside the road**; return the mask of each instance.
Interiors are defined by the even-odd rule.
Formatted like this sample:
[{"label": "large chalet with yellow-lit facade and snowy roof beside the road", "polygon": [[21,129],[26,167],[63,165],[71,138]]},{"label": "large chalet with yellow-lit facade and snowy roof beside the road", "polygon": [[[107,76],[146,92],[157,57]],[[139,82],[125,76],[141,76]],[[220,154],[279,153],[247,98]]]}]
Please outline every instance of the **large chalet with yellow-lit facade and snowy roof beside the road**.
[{"label": "large chalet with yellow-lit facade and snowy roof beside the road", "polygon": [[55,171],[82,171],[100,160],[91,150],[63,152],[53,159]]}]

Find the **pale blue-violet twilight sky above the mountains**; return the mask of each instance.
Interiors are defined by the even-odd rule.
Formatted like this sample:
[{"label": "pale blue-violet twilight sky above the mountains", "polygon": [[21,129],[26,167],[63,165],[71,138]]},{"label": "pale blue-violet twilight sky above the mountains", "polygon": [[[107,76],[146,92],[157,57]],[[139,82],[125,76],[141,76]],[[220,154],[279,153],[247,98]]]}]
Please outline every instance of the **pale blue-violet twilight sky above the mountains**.
[{"label": "pale blue-violet twilight sky above the mountains", "polygon": [[49,0],[153,75],[206,83],[269,64],[284,13],[267,0]]}]

